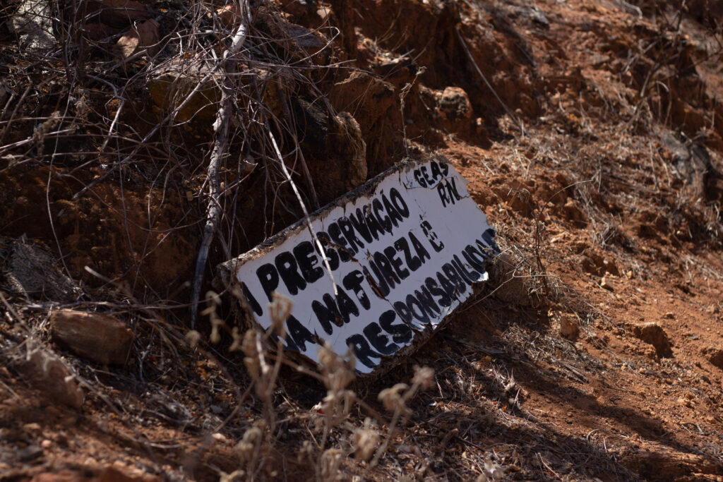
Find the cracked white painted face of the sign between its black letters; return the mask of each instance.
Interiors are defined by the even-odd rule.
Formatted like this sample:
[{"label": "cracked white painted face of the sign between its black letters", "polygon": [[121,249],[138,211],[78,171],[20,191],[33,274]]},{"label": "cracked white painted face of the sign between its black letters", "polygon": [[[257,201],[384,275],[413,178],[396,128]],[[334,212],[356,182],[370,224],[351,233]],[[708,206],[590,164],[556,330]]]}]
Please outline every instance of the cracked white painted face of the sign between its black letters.
[{"label": "cracked white painted face of the sign between its black letters", "polygon": [[[372,225],[375,224],[375,221],[381,220],[380,225],[386,224],[391,228],[391,233],[388,232],[389,230],[385,230],[384,233],[377,232],[378,239],[372,238],[371,242],[367,242],[364,236],[359,233],[359,230],[354,230],[356,238],[360,241],[358,244],[355,243],[359,251],[354,254],[354,259],[347,262],[340,261],[338,266],[333,269],[333,277],[340,289],[339,296],[341,298],[333,298],[333,285],[328,272],[324,268],[322,257],[318,255],[317,251],[311,252],[309,245],[303,244],[306,242],[314,246],[312,236],[306,228],[300,229],[298,226],[294,229],[289,228],[294,234],[288,236],[280,244],[273,246],[272,249],[257,248],[244,254],[239,258],[241,263],[237,265],[236,278],[247,287],[248,292],[251,294],[251,297],[247,296],[247,298],[252,301],[252,305],[254,305],[253,300],[257,301],[257,304],[255,304],[257,306],[255,314],[257,322],[264,328],[270,326],[269,298],[265,293],[264,280],[267,291],[270,291],[275,285],[273,279],[275,271],[279,279],[274,289],[288,296],[294,302],[294,308],[291,312],[292,317],[298,320],[309,333],[317,335],[321,340],[330,341],[337,353],[346,353],[351,338],[352,344],[356,343],[357,369],[363,373],[372,371],[374,366],[379,363],[382,351],[392,354],[402,346],[411,343],[411,339],[407,340],[407,338],[410,338],[413,332],[407,332],[406,326],[410,326],[414,330],[423,330],[425,325],[437,326],[453,309],[471,296],[471,282],[476,283],[487,280],[487,273],[484,272],[484,268],[479,269],[479,261],[482,260],[482,254],[484,254],[484,257],[489,257],[497,247],[494,246],[494,241],[490,243],[490,234],[493,234],[493,231],[490,230],[484,213],[479,210],[479,207],[469,196],[466,189],[467,184],[467,181],[448,163],[429,161],[424,164],[406,165],[400,171],[393,172],[378,181],[377,186],[368,191],[367,194],[353,200],[342,199],[335,207],[322,211],[322,215],[312,217],[314,231],[316,233],[326,233],[330,229],[335,231],[333,225],[339,227],[338,222],[340,219],[343,221],[343,217],[348,216],[350,213],[356,215],[357,209],[363,210],[364,206],[371,206]],[[450,191],[448,186],[452,185],[455,186],[459,199]],[[440,191],[443,193],[442,195],[440,195]],[[394,194],[395,192],[401,194],[403,202],[400,201],[400,196]],[[387,202],[385,202],[385,198]],[[399,209],[394,207],[395,205]],[[408,210],[407,215],[404,215],[403,206],[405,205]],[[397,212],[397,215],[394,215],[394,211]],[[377,212],[378,216],[373,215],[374,212]],[[388,215],[391,215],[389,223],[386,222]],[[396,221],[397,226],[390,224],[392,219]],[[369,221],[369,218],[367,218],[367,221]],[[351,225],[353,226],[353,223]],[[427,228],[426,233],[425,227]],[[346,228],[348,229],[348,225],[346,225]],[[341,228],[339,231],[342,235],[344,234]],[[483,238],[485,233],[487,233],[486,238]],[[321,237],[323,238],[323,234]],[[337,240],[340,239],[338,236],[336,238]],[[349,238],[351,236],[344,236],[343,240],[348,242]],[[409,248],[408,254],[403,249],[405,241],[399,241],[401,238],[406,239]],[[414,248],[413,238],[419,241],[418,246],[421,245],[422,249]],[[443,244],[441,249],[440,243]],[[361,248],[361,244],[364,245],[363,248]],[[494,247],[490,248],[490,244]],[[296,248],[295,257],[294,248]],[[387,254],[392,254],[393,263],[397,264],[396,268],[391,269],[393,275],[388,274],[386,279],[393,281],[396,277],[400,283],[394,283],[393,288],[388,286],[388,293],[382,293],[386,296],[377,293],[380,290],[375,291],[366,277],[356,286],[356,289],[354,289],[353,283],[350,284],[351,289],[344,288],[343,280],[355,270],[363,273],[364,268],[366,268],[372,279],[376,280],[374,266],[378,270],[380,265],[384,264],[384,259],[390,259],[384,254],[385,249]],[[469,257],[470,253],[475,252],[475,249],[476,257]],[[264,251],[266,251],[265,254],[259,254]],[[425,251],[428,257],[424,256]],[[466,254],[463,251],[466,251]],[[283,254],[284,252],[286,254]],[[338,256],[340,252],[338,243],[335,252]],[[396,254],[393,254],[393,252]],[[375,253],[377,253],[376,258]],[[331,251],[330,254],[332,254],[330,260],[333,260]],[[453,262],[455,256],[463,267]],[[289,264],[292,257],[294,261]],[[419,259],[419,262],[423,261],[423,263],[416,270],[413,270],[412,268],[417,265],[416,258]],[[286,264],[283,262],[284,259],[286,259]],[[380,261],[381,264],[375,262],[375,259]],[[475,263],[472,263],[470,259],[476,263],[477,269],[474,266]],[[300,263],[306,264],[307,279],[304,279],[304,274],[300,268],[296,269],[297,276],[290,274],[294,269],[294,262],[297,265]],[[447,264],[446,267],[445,264]],[[286,267],[286,277],[289,279],[294,278],[296,282],[286,283],[283,276],[280,275],[278,266]],[[453,271],[450,271],[450,267],[453,268]],[[457,293],[449,296],[449,288],[453,284],[451,280],[455,278],[451,273],[456,273],[456,277],[463,279],[463,276],[461,276],[462,271],[466,273],[468,278],[464,283],[465,290],[463,292],[458,290]],[[402,280],[399,275],[405,274],[406,277]],[[437,287],[440,288],[440,291],[437,291],[437,296],[433,296],[432,291],[429,291],[435,284],[429,283],[429,278],[432,278]],[[445,279],[450,280],[450,283],[445,284]],[[351,275],[349,280],[354,280],[354,275]],[[459,280],[457,284],[459,285]],[[377,281],[377,285],[382,286],[382,283]],[[444,291],[442,288],[444,285],[446,285],[448,291]],[[435,301],[434,303],[427,303],[427,316],[422,316],[425,311],[421,308],[422,304],[415,304],[413,299],[408,298],[411,295],[415,299],[419,299],[420,296],[417,296],[419,294],[422,294],[421,297],[424,298],[424,289],[422,287],[427,288],[427,293],[431,296],[432,301]],[[381,291],[385,292],[387,290],[382,289]],[[415,291],[418,293],[415,294]],[[344,303],[342,298],[344,298],[345,293],[348,295],[348,300],[351,300],[351,304],[348,303],[348,300],[346,300],[346,304]],[[450,298],[448,300],[449,306],[442,306],[442,304],[447,304],[447,300],[442,296],[443,293],[448,293]],[[340,327],[327,322],[325,327],[325,324],[320,321],[320,317],[317,316],[315,309],[313,309],[313,302],[317,301],[322,306],[326,306],[323,301],[325,295],[327,295],[328,300],[331,296],[333,301],[336,302],[336,306],[341,301],[341,304],[348,308],[347,311],[351,311],[348,315],[348,322],[343,322],[343,326]],[[362,302],[365,296],[368,304]],[[351,309],[352,304],[356,309]],[[365,308],[365,304],[367,304],[368,308]],[[413,309],[412,312],[416,312],[419,316],[413,317],[409,324],[404,324],[401,318],[408,316],[408,313],[403,306],[406,306],[408,311],[410,305]],[[318,309],[319,305],[316,306]],[[437,306],[437,310],[434,309],[435,306]],[[393,312],[390,313],[390,311]],[[387,330],[380,323],[380,317],[385,313],[385,319],[394,317],[393,322],[385,324]],[[428,322],[427,317],[429,318]],[[293,332],[292,328],[291,324],[288,324],[288,330]],[[305,349],[302,349],[302,343],[298,342],[304,336],[299,335],[298,330],[296,331],[297,343],[292,343],[294,337],[290,339],[287,336],[287,347],[294,348],[293,345],[296,345],[296,348],[299,348],[301,353],[304,353],[313,361],[317,361],[317,345],[307,340],[304,342]],[[367,343],[367,347],[373,353],[369,353],[369,350],[364,347],[364,343]],[[384,350],[379,348],[384,348]]]}]

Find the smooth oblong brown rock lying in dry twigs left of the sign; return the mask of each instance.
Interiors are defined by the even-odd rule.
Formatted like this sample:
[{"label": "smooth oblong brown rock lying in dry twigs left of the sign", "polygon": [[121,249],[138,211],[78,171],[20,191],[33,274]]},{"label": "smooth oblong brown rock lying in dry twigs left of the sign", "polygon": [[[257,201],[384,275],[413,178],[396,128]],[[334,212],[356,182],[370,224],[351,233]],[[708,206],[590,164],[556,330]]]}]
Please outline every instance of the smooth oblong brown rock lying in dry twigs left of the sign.
[{"label": "smooth oblong brown rock lying in dry twigs left of the sign", "polygon": [[77,355],[104,365],[123,365],[133,342],[133,333],[124,322],[98,313],[55,311],[50,328],[55,340]]}]

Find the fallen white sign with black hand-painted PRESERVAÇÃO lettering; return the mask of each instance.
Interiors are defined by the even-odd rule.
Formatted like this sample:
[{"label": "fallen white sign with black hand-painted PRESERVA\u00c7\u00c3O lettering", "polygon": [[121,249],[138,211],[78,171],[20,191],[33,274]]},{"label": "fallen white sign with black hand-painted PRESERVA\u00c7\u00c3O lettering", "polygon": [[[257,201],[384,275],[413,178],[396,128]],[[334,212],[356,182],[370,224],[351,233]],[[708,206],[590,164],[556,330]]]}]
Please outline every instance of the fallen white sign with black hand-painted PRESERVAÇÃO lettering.
[{"label": "fallen white sign with black hand-painted PRESERVA\u00c7\u00c3O lettering", "polygon": [[274,291],[293,301],[287,350],[317,361],[322,340],[340,355],[351,346],[356,369],[372,372],[487,280],[500,250],[467,184],[445,160],[401,163],[311,215],[318,244],[299,220],[221,264],[221,280],[264,329]]}]

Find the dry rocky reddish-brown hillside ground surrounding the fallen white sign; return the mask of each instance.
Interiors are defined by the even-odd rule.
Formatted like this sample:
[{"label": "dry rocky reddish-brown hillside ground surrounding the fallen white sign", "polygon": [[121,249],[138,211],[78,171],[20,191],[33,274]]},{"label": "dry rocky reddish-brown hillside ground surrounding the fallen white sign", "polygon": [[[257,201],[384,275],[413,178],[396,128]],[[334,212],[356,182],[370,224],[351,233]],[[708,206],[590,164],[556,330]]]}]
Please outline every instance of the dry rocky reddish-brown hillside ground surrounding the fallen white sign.
[{"label": "dry rocky reddish-brown hillside ground surrounding the fallen white sign", "polygon": [[[723,481],[719,1],[254,2],[239,75],[222,4],[10,3],[1,480]],[[213,297],[189,332],[210,197],[202,293],[301,215],[272,137],[309,207],[445,156],[497,230],[374,382],[254,375]]]}]

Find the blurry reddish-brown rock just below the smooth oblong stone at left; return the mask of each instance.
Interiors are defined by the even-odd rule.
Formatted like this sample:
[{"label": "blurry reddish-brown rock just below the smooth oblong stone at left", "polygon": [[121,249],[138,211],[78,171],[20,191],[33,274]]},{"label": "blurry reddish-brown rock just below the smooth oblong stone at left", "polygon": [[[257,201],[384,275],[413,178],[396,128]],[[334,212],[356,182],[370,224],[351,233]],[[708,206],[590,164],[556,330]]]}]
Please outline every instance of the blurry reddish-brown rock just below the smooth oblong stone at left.
[{"label": "blurry reddish-brown rock just below the smooth oblong stone at left", "polygon": [[30,349],[27,356],[15,362],[15,368],[52,403],[76,409],[82,406],[83,392],[74,375],[53,353],[42,348]]}]

